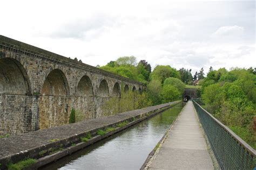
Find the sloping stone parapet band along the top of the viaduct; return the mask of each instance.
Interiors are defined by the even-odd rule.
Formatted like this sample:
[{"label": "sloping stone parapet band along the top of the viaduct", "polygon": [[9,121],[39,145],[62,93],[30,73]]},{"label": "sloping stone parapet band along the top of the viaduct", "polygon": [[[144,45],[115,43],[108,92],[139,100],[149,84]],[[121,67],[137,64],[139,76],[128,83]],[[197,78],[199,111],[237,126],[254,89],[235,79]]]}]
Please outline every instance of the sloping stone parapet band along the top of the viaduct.
[{"label": "sloping stone parapet band along the top of the viaduct", "polygon": [[[45,58],[46,60],[51,60],[52,62],[56,62],[56,63],[62,64],[62,65],[72,66],[72,67],[76,67],[78,69],[84,69],[87,72],[103,74],[105,76],[110,76],[115,79],[120,79],[120,80],[123,80],[126,82],[135,83],[135,84],[139,84],[141,86],[145,86],[144,83],[141,83],[141,82],[138,82],[135,80],[131,80],[129,78],[126,78],[126,77],[123,77],[123,76],[120,76],[120,75],[117,75],[117,74],[114,74],[111,72],[107,72],[106,70],[87,65],[83,62],[79,62],[79,61],[75,61],[73,59],[66,58],[65,56],[58,55],[58,54],[46,51],[45,49],[38,48],[38,47],[29,45],[29,44],[25,44],[24,42],[17,41],[17,40],[14,40],[14,39],[2,36],[2,35],[0,35],[0,48],[8,49],[8,50],[14,51],[14,52],[21,52],[26,55],[33,55],[37,58]],[[1,58],[1,53],[0,53],[0,58]]]}]

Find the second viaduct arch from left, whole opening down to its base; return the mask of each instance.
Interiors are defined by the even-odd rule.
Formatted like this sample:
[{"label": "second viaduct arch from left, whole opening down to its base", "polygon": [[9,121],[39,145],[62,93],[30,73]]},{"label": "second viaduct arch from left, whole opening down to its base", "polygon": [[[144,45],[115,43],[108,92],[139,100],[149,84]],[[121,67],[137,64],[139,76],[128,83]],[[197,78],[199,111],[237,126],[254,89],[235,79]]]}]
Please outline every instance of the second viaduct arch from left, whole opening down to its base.
[{"label": "second viaduct arch from left, whole opening down to its base", "polygon": [[46,77],[39,98],[39,129],[64,125],[69,121],[69,84],[60,69],[53,69]]}]

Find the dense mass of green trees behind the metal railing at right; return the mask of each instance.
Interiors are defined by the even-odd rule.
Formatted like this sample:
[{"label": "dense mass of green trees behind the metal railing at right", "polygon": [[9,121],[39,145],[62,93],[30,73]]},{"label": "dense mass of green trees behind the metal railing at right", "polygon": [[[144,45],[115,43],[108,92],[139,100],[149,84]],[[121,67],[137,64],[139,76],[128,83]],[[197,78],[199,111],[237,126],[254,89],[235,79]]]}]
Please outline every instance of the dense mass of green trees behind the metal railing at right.
[{"label": "dense mass of green trees behind the metal railing at right", "polygon": [[212,70],[201,93],[205,108],[255,148],[256,76],[240,68]]}]

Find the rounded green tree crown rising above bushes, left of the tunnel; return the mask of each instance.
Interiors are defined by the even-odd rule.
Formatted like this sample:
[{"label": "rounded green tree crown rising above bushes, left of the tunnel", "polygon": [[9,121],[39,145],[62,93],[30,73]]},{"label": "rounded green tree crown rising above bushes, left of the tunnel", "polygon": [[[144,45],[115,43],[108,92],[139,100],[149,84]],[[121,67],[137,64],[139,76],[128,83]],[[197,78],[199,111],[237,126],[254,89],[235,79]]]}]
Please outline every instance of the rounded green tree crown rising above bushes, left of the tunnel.
[{"label": "rounded green tree crown rising above bushes, left of the tunnel", "polygon": [[180,79],[180,73],[171,66],[157,66],[154,68],[151,76],[152,79],[160,80],[161,83],[164,83],[164,80],[168,77],[175,77]]}]

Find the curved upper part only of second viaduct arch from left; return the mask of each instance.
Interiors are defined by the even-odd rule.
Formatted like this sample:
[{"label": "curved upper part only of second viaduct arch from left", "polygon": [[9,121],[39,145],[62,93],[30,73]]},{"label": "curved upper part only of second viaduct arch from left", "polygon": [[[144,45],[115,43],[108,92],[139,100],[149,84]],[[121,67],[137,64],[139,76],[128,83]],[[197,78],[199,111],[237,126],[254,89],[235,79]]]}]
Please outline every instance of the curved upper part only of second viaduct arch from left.
[{"label": "curved upper part only of second viaduct arch from left", "polygon": [[65,74],[60,69],[53,69],[46,77],[42,95],[67,96],[69,95],[69,84]]}]

